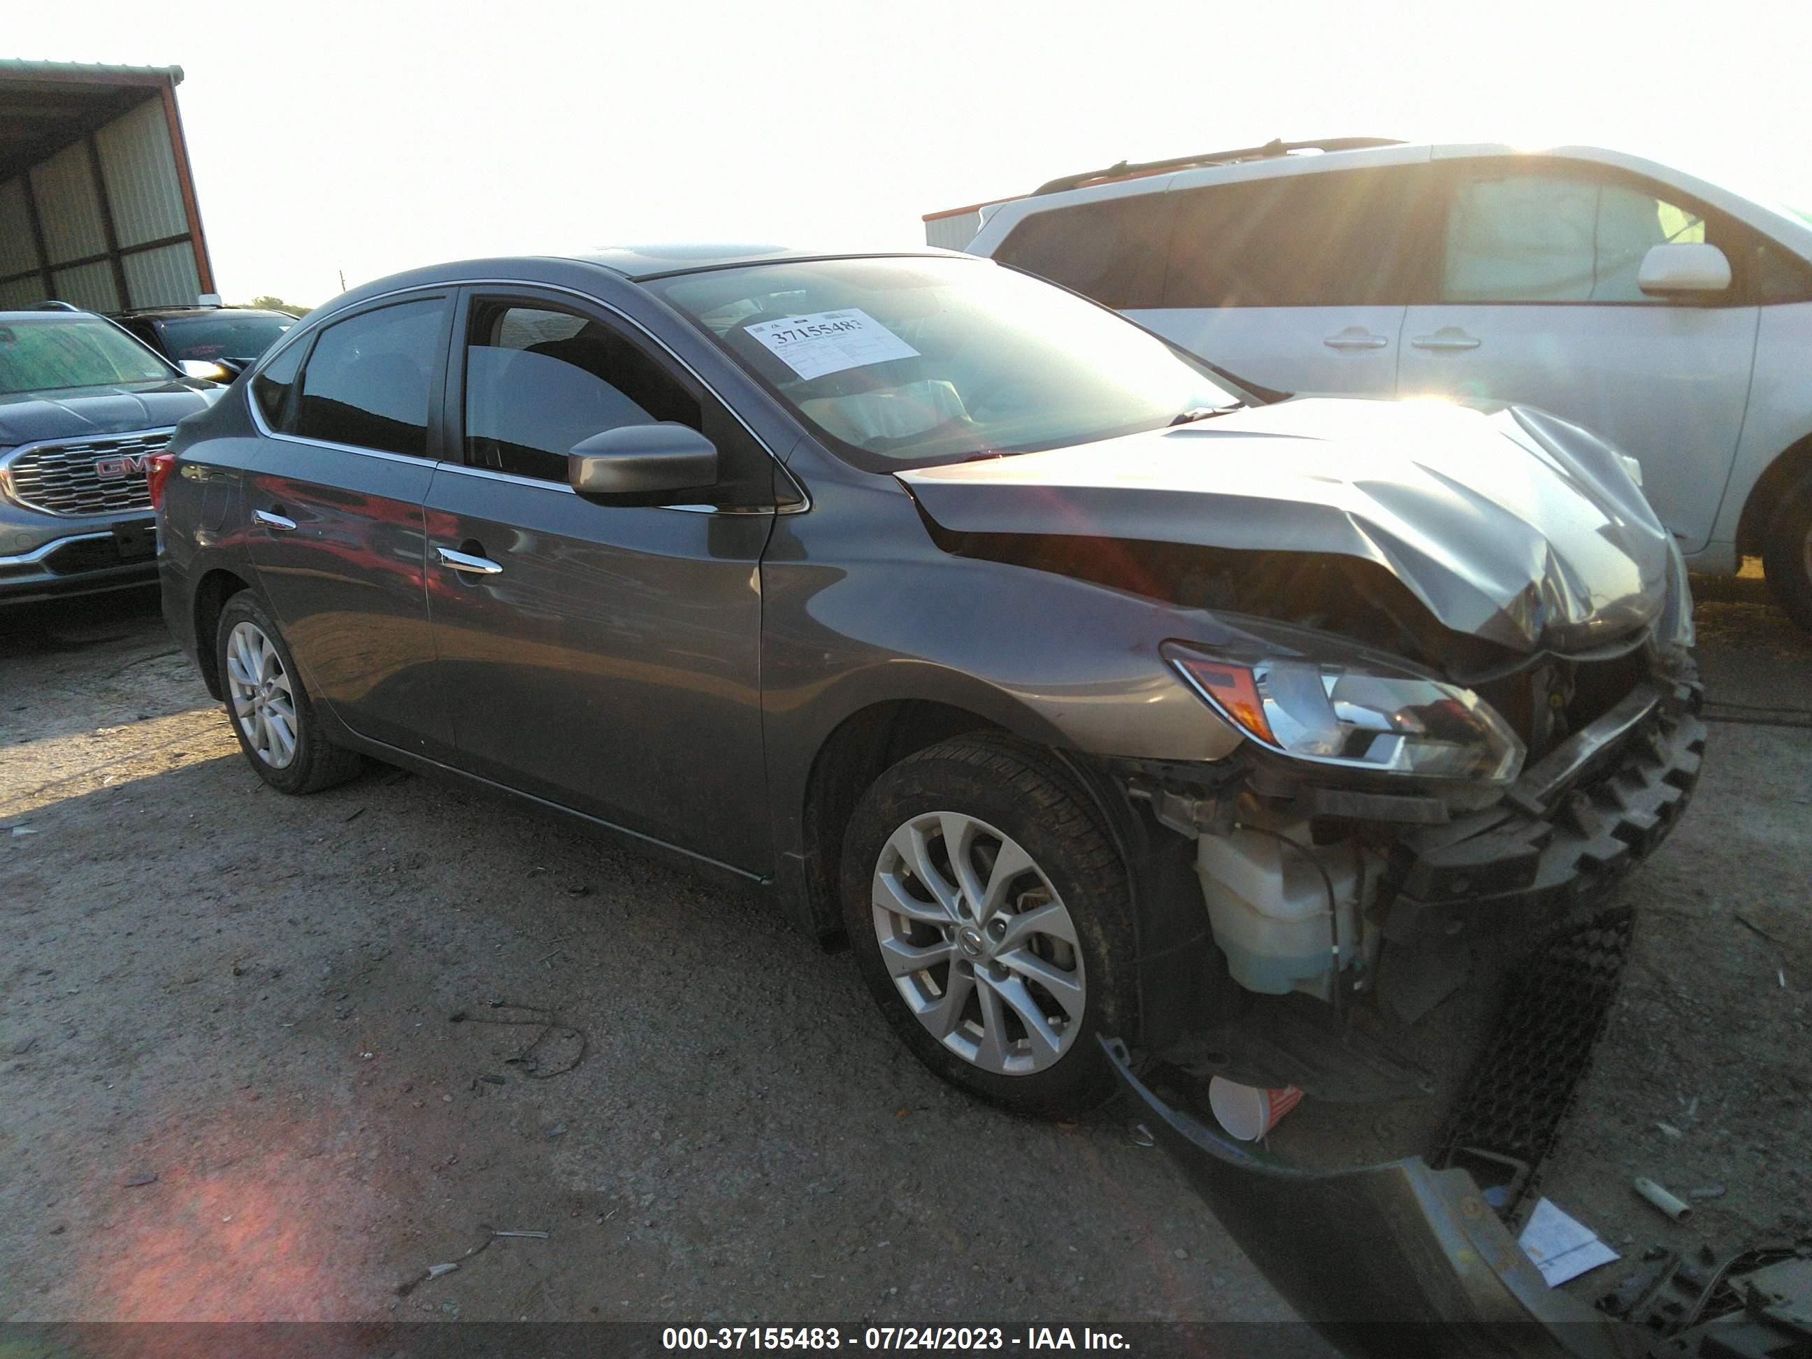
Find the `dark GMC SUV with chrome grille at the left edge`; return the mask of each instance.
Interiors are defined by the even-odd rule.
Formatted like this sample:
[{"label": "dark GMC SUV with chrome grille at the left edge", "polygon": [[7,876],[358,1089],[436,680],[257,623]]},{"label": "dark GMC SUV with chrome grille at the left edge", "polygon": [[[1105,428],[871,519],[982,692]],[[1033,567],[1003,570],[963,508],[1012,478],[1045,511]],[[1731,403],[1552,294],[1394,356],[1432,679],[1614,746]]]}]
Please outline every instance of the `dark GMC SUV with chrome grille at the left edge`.
[{"label": "dark GMC SUV with chrome grille at the left edge", "polygon": [[105,317],[0,312],[0,605],[156,582],[145,460],[223,390]]}]

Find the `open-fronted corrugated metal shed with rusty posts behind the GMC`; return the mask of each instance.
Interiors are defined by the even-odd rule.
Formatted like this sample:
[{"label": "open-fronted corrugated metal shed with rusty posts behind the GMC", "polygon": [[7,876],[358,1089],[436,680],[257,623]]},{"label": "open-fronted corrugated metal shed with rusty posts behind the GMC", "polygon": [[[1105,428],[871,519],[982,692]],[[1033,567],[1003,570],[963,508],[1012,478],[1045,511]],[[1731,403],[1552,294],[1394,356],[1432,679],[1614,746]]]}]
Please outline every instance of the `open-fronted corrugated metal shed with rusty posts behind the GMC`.
[{"label": "open-fronted corrugated metal shed with rusty posts behind the GMC", "polygon": [[181,67],[0,60],[0,308],[96,312],[214,292]]}]

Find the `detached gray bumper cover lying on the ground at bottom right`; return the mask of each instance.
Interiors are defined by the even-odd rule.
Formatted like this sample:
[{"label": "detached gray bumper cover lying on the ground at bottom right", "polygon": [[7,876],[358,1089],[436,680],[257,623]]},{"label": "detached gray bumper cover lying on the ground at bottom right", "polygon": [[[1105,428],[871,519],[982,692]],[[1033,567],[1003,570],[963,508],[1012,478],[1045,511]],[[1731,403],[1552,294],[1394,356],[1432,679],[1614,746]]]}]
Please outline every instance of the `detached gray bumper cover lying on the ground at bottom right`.
[{"label": "detached gray bumper cover lying on the ground at bottom right", "polygon": [[1740,1256],[1678,1306],[1656,1305],[1665,1279],[1633,1279],[1616,1319],[1549,1288],[1466,1171],[1421,1156],[1301,1171],[1167,1102],[1161,1067],[1147,1084],[1118,1038],[1100,1042],[1227,1234],[1345,1355],[1763,1359],[1812,1345],[1812,1245]]}]

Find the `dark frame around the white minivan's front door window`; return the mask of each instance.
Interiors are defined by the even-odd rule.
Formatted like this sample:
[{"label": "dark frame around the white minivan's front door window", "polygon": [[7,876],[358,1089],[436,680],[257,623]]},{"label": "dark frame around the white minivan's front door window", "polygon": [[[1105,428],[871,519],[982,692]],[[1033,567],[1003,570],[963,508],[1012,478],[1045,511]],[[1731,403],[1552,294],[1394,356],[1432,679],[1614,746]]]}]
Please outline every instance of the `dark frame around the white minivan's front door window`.
[{"label": "dark frame around the white minivan's front door window", "polygon": [[[1430,221],[1431,248],[1428,252],[1430,268],[1422,277],[1422,297],[1419,306],[1647,306],[1647,308],[1687,308],[1687,310],[1730,310],[1756,306],[1754,268],[1749,259],[1758,241],[1765,237],[1754,226],[1738,221],[1729,212],[1720,212],[1694,194],[1674,185],[1660,183],[1645,174],[1625,170],[1618,165],[1600,165],[1598,161],[1576,161],[1564,156],[1482,156],[1473,159],[1453,159],[1441,163],[1441,179],[1435,187],[1435,210]],[[1453,212],[1453,196],[1468,179],[1504,178],[1508,174],[1549,176],[1555,179],[1578,179],[1593,185],[1616,185],[1653,196],[1658,203],[1685,208],[1705,223],[1705,236],[1711,239],[1718,232],[1721,241],[1711,241],[1730,261],[1730,290],[1711,301],[1687,301],[1672,297],[1631,299],[1569,299],[1569,301],[1522,301],[1499,299],[1488,303],[1450,303],[1441,295],[1441,283],[1448,270],[1448,221]],[[1730,239],[1734,237],[1734,239]],[[1732,248],[1741,243],[1741,248]]]}]

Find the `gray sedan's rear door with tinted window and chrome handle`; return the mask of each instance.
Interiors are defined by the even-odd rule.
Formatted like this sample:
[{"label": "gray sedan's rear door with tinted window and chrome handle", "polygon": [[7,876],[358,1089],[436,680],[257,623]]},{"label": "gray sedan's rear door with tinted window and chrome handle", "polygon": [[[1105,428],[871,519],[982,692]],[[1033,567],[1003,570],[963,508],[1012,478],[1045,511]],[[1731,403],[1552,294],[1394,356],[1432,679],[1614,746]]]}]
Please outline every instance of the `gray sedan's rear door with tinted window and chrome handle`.
[{"label": "gray sedan's rear door with tinted window and chrome handle", "polygon": [[422,535],[451,301],[373,306],[279,353],[252,384],[270,437],[246,486],[257,583],[310,692],[429,759],[451,752]]}]

